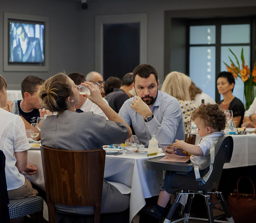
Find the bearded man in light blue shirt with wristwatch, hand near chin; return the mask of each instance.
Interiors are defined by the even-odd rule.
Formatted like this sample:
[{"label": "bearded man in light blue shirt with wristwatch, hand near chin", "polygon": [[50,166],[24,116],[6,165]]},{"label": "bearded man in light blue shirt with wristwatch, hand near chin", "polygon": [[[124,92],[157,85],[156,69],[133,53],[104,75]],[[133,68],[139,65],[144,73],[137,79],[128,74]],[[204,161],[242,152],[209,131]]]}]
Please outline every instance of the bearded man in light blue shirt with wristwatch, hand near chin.
[{"label": "bearded man in light blue shirt with wristwatch, hand near chin", "polygon": [[137,96],[124,102],[119,115],[133,126],[135,135],[144,145],[153,135],[158,144],[184,140],[185,131],[180,103],[176,98],[161,92],[157,71],[149,64],[141,64],[133,71]]}]

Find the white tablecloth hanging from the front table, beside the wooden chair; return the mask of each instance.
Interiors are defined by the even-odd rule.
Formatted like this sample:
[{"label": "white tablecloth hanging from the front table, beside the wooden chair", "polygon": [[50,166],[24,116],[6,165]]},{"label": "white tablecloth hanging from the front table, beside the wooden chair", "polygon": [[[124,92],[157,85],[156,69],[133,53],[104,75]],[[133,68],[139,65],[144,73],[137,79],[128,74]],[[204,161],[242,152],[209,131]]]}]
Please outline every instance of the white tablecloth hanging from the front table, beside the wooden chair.
[{"label": "white tablecloth hanging from the front table, beside the wooden chair", "polygon": [[[161,153],[158,156],[163,156]],[[163,179],[161,170],[149,166],[144,156],[106,156],[104,178],[131,188],[130,222],[146,204],[145,198],[159,195],[159,183]],[[28,150],[28,163],[36,165],[38,172],[26,176],[33,184],[45,190],[40,150]]]}]

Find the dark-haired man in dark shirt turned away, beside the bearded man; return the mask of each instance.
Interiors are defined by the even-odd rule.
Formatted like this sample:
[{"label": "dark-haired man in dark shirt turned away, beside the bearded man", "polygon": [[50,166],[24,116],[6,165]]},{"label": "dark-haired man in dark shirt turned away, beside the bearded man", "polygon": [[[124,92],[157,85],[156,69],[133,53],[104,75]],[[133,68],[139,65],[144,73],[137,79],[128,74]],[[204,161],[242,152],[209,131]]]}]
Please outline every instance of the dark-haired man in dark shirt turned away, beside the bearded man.
[{"label": "dark-haired man in dark shirt turned away, beside the bearded man", "polygon": [[133,73],[128,73],[122,78],[121,88],[114,88],[113,92],[106,96],[109,106],[116,113],[119,113],[123,103],[131,97],[129,91],[133,88],[133,86]]}]

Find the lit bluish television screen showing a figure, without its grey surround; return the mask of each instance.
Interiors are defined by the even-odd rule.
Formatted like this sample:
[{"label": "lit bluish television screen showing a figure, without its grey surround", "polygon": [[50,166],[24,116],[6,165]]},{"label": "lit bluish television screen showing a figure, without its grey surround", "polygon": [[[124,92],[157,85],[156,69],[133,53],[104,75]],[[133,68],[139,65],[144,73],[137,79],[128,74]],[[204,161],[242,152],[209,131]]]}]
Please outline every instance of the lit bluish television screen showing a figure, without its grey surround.
[{"label": "lit bluish television screen showing a figure, without its grey surround", "polygon": [[9,21],[9,63],[43,63],[44,23]]}]

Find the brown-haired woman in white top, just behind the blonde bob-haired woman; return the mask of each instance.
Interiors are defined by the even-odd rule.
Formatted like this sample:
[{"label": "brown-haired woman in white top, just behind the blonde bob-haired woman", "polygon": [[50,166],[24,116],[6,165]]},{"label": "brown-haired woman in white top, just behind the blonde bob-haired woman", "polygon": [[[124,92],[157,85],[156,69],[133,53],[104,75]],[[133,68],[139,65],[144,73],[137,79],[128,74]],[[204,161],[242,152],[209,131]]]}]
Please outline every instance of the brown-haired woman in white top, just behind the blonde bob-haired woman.
[{"label": "brown-haired woman in white top, just behind the blonde bob-haired woman", "polygon": [[189,92],[190,92],[190,99],[196,107],[199,107],[201,105],[202,99],[204,99],[204,104],[207,104],[207,103],[216,104],[215,100],[213,100],[206,93],[203,93],[202,90],[198,88],[193,81],[191,81]]}]

